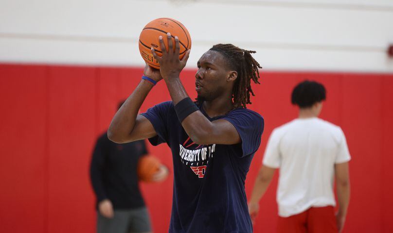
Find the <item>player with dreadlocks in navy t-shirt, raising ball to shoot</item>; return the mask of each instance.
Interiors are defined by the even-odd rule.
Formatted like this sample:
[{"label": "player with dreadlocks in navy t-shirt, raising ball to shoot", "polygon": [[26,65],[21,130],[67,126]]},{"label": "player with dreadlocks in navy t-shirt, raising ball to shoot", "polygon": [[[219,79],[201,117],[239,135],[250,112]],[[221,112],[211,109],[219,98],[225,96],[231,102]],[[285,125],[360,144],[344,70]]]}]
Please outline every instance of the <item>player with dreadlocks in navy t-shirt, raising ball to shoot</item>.
[{"label": "player with dreadlocks in navy t-shirt, raising ball to shoot", "polygon": [[[162,57],[152,52],[161,69],[144,68],[141,83],[116,113],[108,130],[110,140],[125,143],[149,138],[172,150],[174,189],[170,233],[251,233],[244,182],[258,149],[263,118],[246,109],[258,83],[255,51],[218,44],[197,62],[194,103],[179,79],[190,51],[179,60],[179,39]],[[163,38],[159,38],[165,48]],[[174,50],[175,47],[175,50]],[[164,80],[172,101],[146,113],[138,110],[154,84]]]}]

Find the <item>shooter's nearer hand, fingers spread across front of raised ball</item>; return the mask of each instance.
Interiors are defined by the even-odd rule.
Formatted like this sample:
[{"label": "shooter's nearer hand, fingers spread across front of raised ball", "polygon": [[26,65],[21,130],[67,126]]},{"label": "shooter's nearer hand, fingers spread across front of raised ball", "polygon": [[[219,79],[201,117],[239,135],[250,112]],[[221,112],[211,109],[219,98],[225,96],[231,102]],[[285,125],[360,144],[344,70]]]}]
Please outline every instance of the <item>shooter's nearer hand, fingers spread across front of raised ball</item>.
[{"label": "shooter's nearer hand, fingers spread across front of raised ball", "polygon": [[175,48],[172,43],[172,35],[171,33],[166,34],[168,40],[168,50],[164,45],[164,38],[162,36],[159,37],[160,47],[162,50],[162,56],[158,56],[154,50],[151,48],[151,52],[155,59],[157,59],[160,64],[160,72],[161,76],[165,81],[168,81],[173,78],[179,78],[180,71],[186,66],[188,57],[190,56],[190,50],[187,50],[184,54],[184,57],[179,59],[179,38],[175,36]]}]

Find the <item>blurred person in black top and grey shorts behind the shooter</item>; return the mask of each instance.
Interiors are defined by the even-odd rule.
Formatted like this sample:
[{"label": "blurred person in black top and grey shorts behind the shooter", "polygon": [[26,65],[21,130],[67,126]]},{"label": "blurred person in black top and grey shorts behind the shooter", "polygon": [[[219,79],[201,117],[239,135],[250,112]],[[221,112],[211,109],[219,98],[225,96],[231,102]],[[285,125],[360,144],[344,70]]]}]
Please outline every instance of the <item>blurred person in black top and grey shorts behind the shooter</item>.
[{"label": "blurred person in black top and grey shorts behind the shooter", "polygon": [[[136,172],[138,160],[147,153],[143,140],[116,144],[108,139],[107,133],[98,138],[90,164],[97,200],[97,233],[151,231]],[[154,181],[161,181],[166,175],[167,169],[162,166]]]}]

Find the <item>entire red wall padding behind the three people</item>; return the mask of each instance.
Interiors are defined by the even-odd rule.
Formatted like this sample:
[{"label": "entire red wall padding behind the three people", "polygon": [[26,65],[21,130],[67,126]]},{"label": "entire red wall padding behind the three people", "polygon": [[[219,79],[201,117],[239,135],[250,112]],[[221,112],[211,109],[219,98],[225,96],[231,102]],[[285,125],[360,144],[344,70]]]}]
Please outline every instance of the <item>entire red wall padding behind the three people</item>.
[{"label": "entire red wall padding behind the three people", "polygon": [[[142,67],[0,64],[0,232],[93,233],[89,162],[98,135],[140,82]],[[195,70],[181,79],[195,98]],[[344,232],[393,231],[393,74],[265,72],[250,109],[265,118],[260,149],[247,176],[250,195],[273,128],[293,119],[293,86],[316,80],[327,89],[321,118],[339,125],[348,141],[351,202]],[[155,86],[141,111],[170,100]],[[155,233],[167,232],[172,203],[172,158],[166,145],[149,146],[171,170],[163,183],[141,184]],[[254,232],[275,232],[277,175],[261,200]]]}]

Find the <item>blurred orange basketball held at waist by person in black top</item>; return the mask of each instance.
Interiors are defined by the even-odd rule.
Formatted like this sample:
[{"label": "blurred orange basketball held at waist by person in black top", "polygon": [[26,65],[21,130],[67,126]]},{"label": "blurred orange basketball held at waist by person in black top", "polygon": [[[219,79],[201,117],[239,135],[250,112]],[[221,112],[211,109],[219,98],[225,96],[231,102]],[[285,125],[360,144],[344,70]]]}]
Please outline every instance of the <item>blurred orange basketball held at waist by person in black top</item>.
[{"label": "blurred orange basketball held at waist by person in black top", "polygon": [[153,155],[142,156],[138,161],[138,178],[140,181],[152,182],[153,175],[160,170],[161,162]]}]

